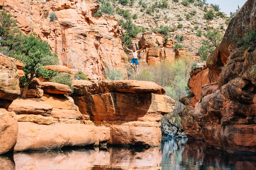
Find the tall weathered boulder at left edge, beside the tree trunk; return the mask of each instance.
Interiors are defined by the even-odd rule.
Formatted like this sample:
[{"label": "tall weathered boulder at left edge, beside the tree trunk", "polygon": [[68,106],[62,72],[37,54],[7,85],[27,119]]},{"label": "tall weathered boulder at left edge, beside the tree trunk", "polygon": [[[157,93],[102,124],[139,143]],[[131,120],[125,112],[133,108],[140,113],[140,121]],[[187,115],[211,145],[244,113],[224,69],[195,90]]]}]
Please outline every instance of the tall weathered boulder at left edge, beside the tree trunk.
[{"label": "tall weathered boulder at left edge, beside the tree trunk", "polygon": [[20,94],[17,67],[11,58],[0,53],[0,98],[15,100]]}]

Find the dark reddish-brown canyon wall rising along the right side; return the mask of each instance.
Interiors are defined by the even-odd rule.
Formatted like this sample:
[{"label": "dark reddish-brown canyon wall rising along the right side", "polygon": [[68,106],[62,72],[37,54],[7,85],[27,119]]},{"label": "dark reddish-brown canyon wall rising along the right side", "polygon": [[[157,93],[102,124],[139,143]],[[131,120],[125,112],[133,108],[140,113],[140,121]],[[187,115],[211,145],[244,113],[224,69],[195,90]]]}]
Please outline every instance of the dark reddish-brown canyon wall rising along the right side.
[{"label": "dark reddish-brown canyon wall rising along the right side", "polygon": [[181,99],[186,105],[180,116],[187,136],[229,152],[256,152],[255,42],[246,49],[236,43],[256,30],[255,4],[248,0],[236,13],[224,39],[207,59],[207,69],[219,80],[191,84],[205,70],[198,71],[188,83],[195,96]]}]

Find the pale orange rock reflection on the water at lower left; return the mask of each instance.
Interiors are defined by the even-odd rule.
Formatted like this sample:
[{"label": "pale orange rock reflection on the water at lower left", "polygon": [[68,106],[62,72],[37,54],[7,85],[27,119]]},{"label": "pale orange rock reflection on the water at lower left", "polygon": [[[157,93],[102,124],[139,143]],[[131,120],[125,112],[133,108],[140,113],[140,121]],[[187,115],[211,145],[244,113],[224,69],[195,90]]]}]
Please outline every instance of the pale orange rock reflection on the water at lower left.
[{"label": "pale orange rock reflection on the water at lower left", "polygon": [[[0,157],[1,158],[1,157]],[[161,169],[160,147],[86,148],[13,154],[18,170],[46,169]],[[9,162],[8,162],[9,164]],[[14,164],[14,163],[13,163]],[[9,164],[10,165],[10,164]]]}]

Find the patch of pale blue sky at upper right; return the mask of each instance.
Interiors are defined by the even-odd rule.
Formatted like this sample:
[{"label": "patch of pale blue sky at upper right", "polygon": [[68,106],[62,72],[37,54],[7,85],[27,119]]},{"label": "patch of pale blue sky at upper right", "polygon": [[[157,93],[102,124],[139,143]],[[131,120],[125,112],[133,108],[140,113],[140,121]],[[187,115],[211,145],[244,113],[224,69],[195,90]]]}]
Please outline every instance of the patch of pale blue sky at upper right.
[{"label": "patch of pale blue sky at upper right", "polygon": [[225,12],[229,17],[230,12],[235,12],[237,5],[241,8],[246,0],[206,0],[207,3],[220,5],[220,11]]}]

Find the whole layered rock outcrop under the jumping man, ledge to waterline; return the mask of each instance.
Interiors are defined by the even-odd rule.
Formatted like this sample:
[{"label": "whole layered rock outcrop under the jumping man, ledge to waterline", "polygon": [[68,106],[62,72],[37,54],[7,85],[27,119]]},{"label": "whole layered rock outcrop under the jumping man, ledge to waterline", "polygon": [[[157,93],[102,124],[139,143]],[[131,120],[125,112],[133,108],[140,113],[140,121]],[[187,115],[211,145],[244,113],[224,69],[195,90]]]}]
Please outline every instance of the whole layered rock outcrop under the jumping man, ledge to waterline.
[{"label": "whole layered rock outcrop under the jumping man, ledge to waterline", "polygon": [[[78,86],[81,82],[83,86]],[[147,81],[73,80],[73,99],[96,125],[110,128],[109,145],[159,146],[159,120],[172,112],[174,101],[165,90]],[[89,91],[93,87],[93,91]]]}]

